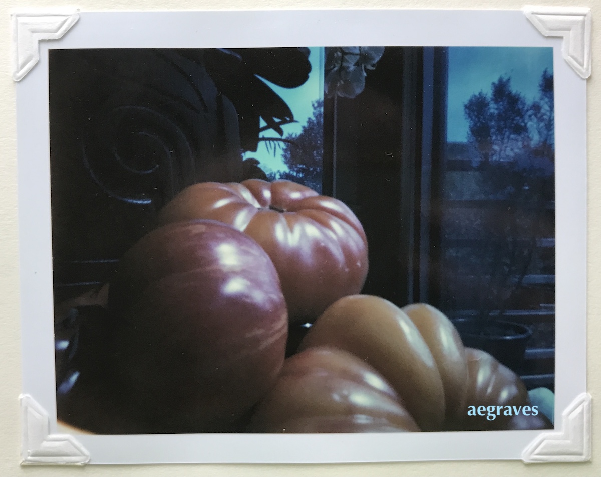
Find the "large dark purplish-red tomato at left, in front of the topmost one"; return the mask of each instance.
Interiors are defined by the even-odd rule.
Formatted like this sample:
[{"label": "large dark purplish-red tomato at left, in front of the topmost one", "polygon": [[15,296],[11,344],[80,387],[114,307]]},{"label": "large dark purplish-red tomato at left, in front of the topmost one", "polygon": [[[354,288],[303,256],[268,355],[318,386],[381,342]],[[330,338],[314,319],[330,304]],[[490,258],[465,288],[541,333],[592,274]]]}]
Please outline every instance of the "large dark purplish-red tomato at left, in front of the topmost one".
[{"label": "large dark purplish-red tomato at left, in front of the topmost one", "polygon": [[272,387],[287,310],[248,235],[212,220],[142,237],[109,290],[121,381],[149,432],[223,432]]}]

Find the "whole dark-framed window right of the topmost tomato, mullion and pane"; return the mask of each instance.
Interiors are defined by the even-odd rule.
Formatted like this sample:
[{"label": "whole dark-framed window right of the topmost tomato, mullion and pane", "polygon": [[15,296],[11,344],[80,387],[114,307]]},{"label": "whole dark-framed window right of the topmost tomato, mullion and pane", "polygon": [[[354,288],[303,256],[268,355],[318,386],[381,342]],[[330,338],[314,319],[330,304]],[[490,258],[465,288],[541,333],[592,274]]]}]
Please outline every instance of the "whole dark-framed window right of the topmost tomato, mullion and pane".
[{"label": "whole dark-framed window right of the topmost tomato, mullion and pane", "polygon": [[387,47],[361,95],[325,99],[324,123],[324,190],[370,243],[364,293],[428,302],[466,335],[527,325],[525,361],[495,353],[552,388],[551,50]]}]

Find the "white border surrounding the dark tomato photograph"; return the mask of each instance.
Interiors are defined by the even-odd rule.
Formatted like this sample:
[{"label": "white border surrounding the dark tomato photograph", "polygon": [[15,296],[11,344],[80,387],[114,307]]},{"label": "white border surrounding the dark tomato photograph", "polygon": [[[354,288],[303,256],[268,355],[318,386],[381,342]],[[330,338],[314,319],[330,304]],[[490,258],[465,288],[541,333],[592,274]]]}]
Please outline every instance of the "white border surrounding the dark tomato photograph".
[{"label": "white border surrounding the dark tomato photograph", "polygon": [[[160,32],[160,34],[157,34]],[[48,51],[67,48],[547,46],[554,49],[555,422],[586,382],[586,81],[519,10],[84,11],[16,85],[23,393],[57,431]],[[63,429],[61,429],[63,431]],[[90,463],[357,463],[519,460],[544,431],[393,434],[76,435]]]}]

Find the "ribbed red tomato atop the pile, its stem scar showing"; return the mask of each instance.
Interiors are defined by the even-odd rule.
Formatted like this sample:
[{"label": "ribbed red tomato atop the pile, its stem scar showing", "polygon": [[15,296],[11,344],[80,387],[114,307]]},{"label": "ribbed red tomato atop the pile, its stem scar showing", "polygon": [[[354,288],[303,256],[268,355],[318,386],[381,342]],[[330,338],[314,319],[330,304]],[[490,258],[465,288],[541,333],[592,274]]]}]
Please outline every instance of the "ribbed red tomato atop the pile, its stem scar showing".
[{"label": "ribbed red tomato atop the pile, its stem scar showing", "polygon": [[188,219],[228,223],[263,247],[278,270],[290,322],[312,322],[365,282],[367,239],[355,214],[295,182],[194,184],[159,213],[159,223]]}]

